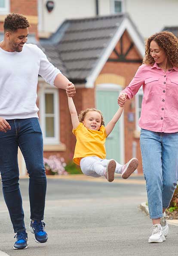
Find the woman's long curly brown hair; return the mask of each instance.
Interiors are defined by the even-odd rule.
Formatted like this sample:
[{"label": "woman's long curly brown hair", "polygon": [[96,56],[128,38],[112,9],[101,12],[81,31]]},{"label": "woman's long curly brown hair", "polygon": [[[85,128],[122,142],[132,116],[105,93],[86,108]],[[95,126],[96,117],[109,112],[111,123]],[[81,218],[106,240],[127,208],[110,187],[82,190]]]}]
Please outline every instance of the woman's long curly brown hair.
[{"label": "woman's long curly brown hair", "polygon": [[148,37],[145,43],[143,64],[152,66],[155,62],[153,57],[150,55],[150,43],[152,40],[155,41],[160,48],[164,49],[172,67],[178,67],[178,38],[169,31],[162,31]]}]

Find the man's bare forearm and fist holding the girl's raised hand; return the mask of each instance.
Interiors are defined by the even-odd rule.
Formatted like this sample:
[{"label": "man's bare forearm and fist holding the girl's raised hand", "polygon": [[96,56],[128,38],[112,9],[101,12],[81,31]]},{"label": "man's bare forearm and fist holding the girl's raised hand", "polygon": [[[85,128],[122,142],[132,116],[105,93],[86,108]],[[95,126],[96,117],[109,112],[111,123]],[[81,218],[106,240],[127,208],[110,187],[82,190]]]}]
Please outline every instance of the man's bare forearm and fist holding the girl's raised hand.
[{"label": "man's bare forearm and fist holding the girl's raised hand", "polygon": [[54,80],[54,85],[57,88],[65,89],[66,93],[69,97],[73,97],[75,95],[75,86],[73,83],[71,83],[67,77],[65,77],[63,74],[57,74]]}]

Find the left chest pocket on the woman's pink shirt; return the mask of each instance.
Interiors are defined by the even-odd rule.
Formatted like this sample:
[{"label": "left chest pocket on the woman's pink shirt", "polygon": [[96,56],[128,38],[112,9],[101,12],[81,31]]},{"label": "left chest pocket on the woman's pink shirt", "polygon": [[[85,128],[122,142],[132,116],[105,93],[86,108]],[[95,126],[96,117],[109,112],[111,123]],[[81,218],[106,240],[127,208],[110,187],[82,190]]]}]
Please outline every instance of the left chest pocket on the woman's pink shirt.
[{"label": "left chest pocket on the woman's pink shirt", "polygon": [[147,96],[158,95],[161,91],[163,81],[160,77],[149,77],[144,80],[144,93]]}]

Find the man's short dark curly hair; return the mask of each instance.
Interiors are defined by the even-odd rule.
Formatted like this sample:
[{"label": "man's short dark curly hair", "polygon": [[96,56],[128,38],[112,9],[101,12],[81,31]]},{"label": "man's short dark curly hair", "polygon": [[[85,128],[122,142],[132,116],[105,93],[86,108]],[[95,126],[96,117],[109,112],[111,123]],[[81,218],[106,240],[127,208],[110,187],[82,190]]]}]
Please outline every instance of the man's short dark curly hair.
[{"label": "man's short dark curly hair", "polygon": [[21,14],[12,13],[8,14],[4,20],[4,32],[17,31],[18,28],[28,28],[30,24],[27,18]]}]

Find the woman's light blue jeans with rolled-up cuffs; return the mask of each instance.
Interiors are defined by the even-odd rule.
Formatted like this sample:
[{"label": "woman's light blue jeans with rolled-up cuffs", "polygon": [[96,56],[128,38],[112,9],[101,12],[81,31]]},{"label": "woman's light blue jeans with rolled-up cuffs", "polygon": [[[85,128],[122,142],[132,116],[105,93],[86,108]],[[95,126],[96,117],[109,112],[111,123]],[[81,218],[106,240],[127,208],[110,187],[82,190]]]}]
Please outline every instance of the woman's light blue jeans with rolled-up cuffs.
[{"label": "woman's light blue jeans with rolled-up cuffs", "polygon": [[159,219],[177,185],[178,133],[141,129],[140,145],[150,218]]}]

